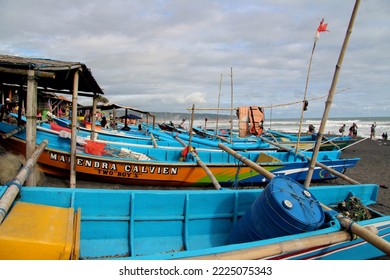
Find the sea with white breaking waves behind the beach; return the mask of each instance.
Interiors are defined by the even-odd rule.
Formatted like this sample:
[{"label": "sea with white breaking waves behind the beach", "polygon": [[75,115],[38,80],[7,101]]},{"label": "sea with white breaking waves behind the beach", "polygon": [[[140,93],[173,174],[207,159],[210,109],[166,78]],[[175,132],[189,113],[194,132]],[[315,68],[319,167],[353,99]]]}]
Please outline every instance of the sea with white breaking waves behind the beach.
[{"label": "sea with white breaking waves behind the beach", "polygon": [[[208,120],[207,123],[204,120],[194,120],[194,126],[207,127],[209,129],[216,128],[216,120]],[[340,134],[339,128],[345,124],[345,135],[349,133],[349,127],[356,123],[358,127],[358,137],[366,138],[370,137],[371,125],[376,124],[375,138],[381,139],[384,132],[390,133],[390,117],[347,117],[347,118],[328,118],[326,121],[324,134]],[[321,124],[321,118],[307,118],[302,121],[300,125],[300,119],[271,119],[265,120],[264,129],[272,129],[283,132],[298,133],[301,126],[301,132],[305,133],[308,130],[309,125],[315,127],[315,131],[318,132]],[[233,129],[237,129],[238,120],[233,120]],[[222,119],[218,121],[218,128],[228,129],[230,128],[230,121]]]}]

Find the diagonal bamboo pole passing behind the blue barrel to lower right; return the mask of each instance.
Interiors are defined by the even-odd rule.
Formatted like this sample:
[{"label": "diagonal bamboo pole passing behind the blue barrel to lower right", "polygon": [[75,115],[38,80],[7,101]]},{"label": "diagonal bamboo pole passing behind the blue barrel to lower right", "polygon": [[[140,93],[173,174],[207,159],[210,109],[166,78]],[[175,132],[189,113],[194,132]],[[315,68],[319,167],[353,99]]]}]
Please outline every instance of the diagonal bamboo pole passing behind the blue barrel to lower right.
[{"label": "diagonal bamboo pole passing behind the blue barrel to lower right", "polygon": [[[254,163],[250,159],[248,159],[248,158],[238,154],[236,151],[230,149],[229,147],[226,147],[225,145],[223,145],[221,143],[218,144],[218,147],[221,148],[222,150],[224,150],[225,152],[233,155],[235,158],[237,158],[238,160],[242,161],[247,166],[251,167],[252,169],[257,171],[259,174],[261,174],[264,177],[266,177],[267,179],[272,180],[272,178],[275,177],[275,175],[273,173],[271,173],[268,170],[264,169],[260,165]],[[326,205],[324,205],[322,203],[321,203],[321,206],[325,210],[329,210],[330,209],[328,206],[326,206]],[[357,236],[361,237],[362,239],[364,239],[368,243],[372,244],[373,246],[375,246],[376,248],[378,248],[379,250],[381,250],[382,252],[384,252],[384,253],[386,253],[387,255],[390,256],[390,243],[389,242],[387,242],[386,240],[382,239],[381,237],[379,237],[379,236],[377,236],[377,235],[367,231],[365,228],[363,228],[362,226],[356,224],[351,219],[349,219],[348,217],[343,216],[342,214],[338,214],[336,216],[336,218],[340,222],[340,225],[342,227],[344,227],[347,230],[350,230],[352,233],[354,233]]]}]

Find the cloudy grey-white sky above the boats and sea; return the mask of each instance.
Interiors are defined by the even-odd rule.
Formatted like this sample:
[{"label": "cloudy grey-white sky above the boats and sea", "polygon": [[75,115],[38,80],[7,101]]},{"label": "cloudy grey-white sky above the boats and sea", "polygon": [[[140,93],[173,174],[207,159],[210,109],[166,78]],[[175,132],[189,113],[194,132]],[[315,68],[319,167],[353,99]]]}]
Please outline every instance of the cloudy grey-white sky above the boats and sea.
[{"label": "cloudy grey-white sky above the boats and sea", "polygon": [[[299,117],[301,103],[295,102],[304,98],[315,31],[324,18],[329,32],[316,44],[306,91],[314,100],[305,112],[320,118],[326,101],[320,97],[329,92],[354,5],[2,0],[0,53],[82,62],[111,103],[143,110],[274,105],[275,118]],[[390,116],[389,15],[389,0],[361,1],[330,117]]]}]

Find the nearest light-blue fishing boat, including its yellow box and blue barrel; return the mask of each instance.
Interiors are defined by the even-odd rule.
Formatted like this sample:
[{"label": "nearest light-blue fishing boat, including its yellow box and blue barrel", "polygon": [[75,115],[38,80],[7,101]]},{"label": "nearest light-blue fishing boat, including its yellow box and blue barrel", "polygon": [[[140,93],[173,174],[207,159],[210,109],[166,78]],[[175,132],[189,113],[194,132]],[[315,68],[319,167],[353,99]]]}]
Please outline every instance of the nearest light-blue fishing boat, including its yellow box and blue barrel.
[{"label": "nearest light-blue fishing boat, including its yellow box and blue barrel", "polygon": [[[0,259],[353,260],[385,255],[344,230],[337,218],[338,205],[358,200],[367,217],[354,225],[388,242],[390,217],[369,207],[377,185],[321,186],[304,193],[300,187],[278,181],[264,190],[22,187],[0,225]],[[0,188],[0,197],[6,190]],[[273,191],[270,204],[278,205],[282,216],[264,205]],[[318,201],[332,210],[322,210]],[[314,214],[313,220],[305,214]],[[255,232],[248,237],[249,229]]]}]

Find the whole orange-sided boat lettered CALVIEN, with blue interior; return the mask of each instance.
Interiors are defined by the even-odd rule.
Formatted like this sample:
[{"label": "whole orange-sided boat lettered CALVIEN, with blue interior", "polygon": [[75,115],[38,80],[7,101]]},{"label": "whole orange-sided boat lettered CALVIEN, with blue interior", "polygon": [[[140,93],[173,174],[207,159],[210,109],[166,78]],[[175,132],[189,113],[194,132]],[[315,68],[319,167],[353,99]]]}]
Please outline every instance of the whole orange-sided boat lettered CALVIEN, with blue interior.
[{"label": "whole orange-sided boat lettered CALVIEN, with blue interior", "polygon": [[[0,123],[0,144],[8,151],[25,155],[26,132],[16,125]],[[46,152],[39,160],[40,169],[60,177],[68,177],[71,164],[69,132],[37,130],[36,143],[49,141]],[[242,161],[223,150],[193,150],[189,146],[181,150],[132,147],[120,142],[91,141],[77,138],[76,172],[78,178],[93,181],[115,182],[138,186],[188,186],[209,187],[216,182],[222,187],[240,187],[265,184],[269,180],[254,172]],[[308,171],[311,152],[303,155],[292,152],[247,151],[241,156],[255,161],[273,174],[287,175],[303,181]],[[336,172],[343,173],[356,165],[359,158],[341,158],[339,151],[320,152],[313,180],[334,179]],[[217,188],[219,188],[219,186]]]}]

